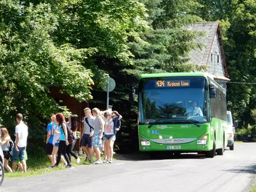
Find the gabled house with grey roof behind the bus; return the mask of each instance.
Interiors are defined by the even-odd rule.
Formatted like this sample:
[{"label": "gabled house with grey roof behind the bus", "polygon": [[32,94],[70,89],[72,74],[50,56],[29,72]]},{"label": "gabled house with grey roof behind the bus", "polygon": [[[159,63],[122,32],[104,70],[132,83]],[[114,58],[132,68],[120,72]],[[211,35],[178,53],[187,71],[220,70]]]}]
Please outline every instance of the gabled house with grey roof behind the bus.
[{"label": "gabled house with grey roof behind the bus", "polygon": [[187,27],[187,30],[203,32],[203,36],[194,39],[200,43],[202,49],[197,48],[189,52],[188,64],[206,66],[207,71],[226,89],[230,80],[227,72],[223,42],[218,22],[198,22]]}]

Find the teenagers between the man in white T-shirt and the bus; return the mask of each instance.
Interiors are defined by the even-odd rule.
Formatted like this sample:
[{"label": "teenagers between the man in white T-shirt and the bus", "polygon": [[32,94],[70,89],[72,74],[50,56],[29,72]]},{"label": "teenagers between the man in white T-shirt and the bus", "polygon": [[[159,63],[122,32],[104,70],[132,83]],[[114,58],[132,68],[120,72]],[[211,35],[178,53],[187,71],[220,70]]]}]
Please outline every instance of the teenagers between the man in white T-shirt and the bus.
[{"label": "teenagers between the man in white T-shirt and the bus", "polygon": [[[106,114],[106,117],[104,116]],[[99,109],[84,109],[84,133],[81,138],[81,147],[86,154],[86,160],[94,164],[112,163],[113,146],[116,139],[116,132],[120,129],[122,116],[116,111]],[[57,167],[62,161],[66,167],[72,168],[71,156],[80,159],[73,152],[77,139],[77,124],[75,115],[65,121],[63,114],[51,114],[51,123],[47,126],[46,154],[51,160],[50,168]],[[102,140],[103,139],[103,140]],[[105,159],[102,161],[100,153],[104,149]],[[94,162],[93,154],[96,161]],[[57,159],[56,159],[57,155]]]}]

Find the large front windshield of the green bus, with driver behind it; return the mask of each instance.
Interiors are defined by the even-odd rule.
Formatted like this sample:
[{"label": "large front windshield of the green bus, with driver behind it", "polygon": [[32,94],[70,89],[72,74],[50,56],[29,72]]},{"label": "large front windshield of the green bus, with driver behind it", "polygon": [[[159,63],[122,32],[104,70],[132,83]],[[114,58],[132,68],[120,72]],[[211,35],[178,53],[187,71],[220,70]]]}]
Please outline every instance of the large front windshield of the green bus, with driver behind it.
[{"label": "large front windshield of the green bus, with driver behind it", "polygon": [[144,78],[139,82],[139,124],[208,122],[204,77]]}]

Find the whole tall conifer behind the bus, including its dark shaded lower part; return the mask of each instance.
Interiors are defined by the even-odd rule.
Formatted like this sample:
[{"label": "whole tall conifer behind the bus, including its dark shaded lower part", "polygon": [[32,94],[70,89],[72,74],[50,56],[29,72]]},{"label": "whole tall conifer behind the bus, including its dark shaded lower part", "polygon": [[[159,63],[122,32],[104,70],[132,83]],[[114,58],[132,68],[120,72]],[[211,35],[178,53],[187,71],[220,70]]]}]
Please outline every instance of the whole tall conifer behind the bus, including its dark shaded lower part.
[{"label": "whole tall conifer behind the bus, including its dark shaded lower part", "polygon": [[[118,58],[97,57],[97,66],[109,73],[116,80],[116,89],[110,93],[110,104],[124,117],[121,133],[117,135],[117,143],[126,145],[126,152],[137,149],[137,102],[128,101],[131,88],[138,86],[138,77],[142,73],[188,72],[201,69],[195,65],[184,64],[185,56],[197,44],[192,40],[198,35],[185,29],[186,25],[200,20],[193,11],[200,7],[194,0],[186,1],[141,1],[147,8],[147,22],[150,28],[137,30],[137,36],[129,36],[127,45],[133,55],[130,61],[124,62]],[[190,14],[191,13],[191,14]],[[93,92],[98,95],[99,91]],[[100,99],[100,98],[99,98]],[[103,99],[101,99],[101,102]],[[104,99],[105,100],[105,99]],[[94,101],[90,102],[94,107]],[[148,109],[154,109],[154,103],[148,103]],[[153,107],[153,108],[152,108]],[[148,114],[152,115],[152,114]]]}]

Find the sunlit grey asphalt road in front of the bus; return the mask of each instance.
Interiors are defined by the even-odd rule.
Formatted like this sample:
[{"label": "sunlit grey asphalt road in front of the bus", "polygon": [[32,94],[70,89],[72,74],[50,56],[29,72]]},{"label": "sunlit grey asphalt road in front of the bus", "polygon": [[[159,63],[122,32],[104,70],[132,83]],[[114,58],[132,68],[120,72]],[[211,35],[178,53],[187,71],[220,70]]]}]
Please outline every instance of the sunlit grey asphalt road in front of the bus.
[{"label": "sunlit grey asphalt road in front of the bus", "polygon": [[206,159],[132,158],[113,164],[84,165],[30,178],[6,179],[2,192],[29,191],[248,191],[255,182],[256,143],[235,143],[234,151]]}]

